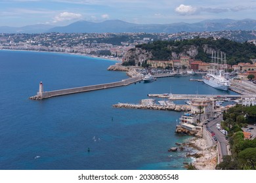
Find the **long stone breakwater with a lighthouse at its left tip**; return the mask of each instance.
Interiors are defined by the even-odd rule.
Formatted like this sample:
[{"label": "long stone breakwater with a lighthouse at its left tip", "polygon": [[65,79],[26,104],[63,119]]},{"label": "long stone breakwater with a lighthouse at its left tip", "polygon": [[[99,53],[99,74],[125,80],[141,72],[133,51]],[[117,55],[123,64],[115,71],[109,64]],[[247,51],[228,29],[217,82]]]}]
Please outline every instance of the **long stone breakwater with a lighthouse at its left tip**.
[{"label": "long stone breakwater with a lighthouse at its left tip", "polygon": [[138,75],[133,78],[127,78],[125,80],[121,80],[119,82],[111,82],[111,83],[97,84],[97,85],[91,85],[91,86],[82,86],[82,87],[68,88],[63,90],[54,90],[50,92],[43,92],[43,84],[40,83],[39,92],[37,92],[37,95],[30,97],[30,99],[41,100],[41,99],[47,99],[50,97],[56,97],[60,95],[69,95],[72,93],[90,92],[93,90],[102,90],[102,89],[114,88],[119,86],[127,86],[129,84],[139,82],[140,80],[142,80],[142,78],[143,78],[143,75]]}]

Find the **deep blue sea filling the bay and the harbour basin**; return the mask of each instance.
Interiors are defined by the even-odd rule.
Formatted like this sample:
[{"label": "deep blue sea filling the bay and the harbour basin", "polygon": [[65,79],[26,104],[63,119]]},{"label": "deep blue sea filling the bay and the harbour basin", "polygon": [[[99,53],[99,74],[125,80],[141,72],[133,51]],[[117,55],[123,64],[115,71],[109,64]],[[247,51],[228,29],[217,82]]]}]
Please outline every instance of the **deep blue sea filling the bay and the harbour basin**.
[{"label": "deep blue sea filling the bay and the harbour basin", "polygon": [[[148,93],[235,94],[190,77],[30,100],[44,90],[115,82],[116,61],[49,52],[0,50],[1,170],[177,170],[186,150],[168,152],[191,137],[175,133],[183,112],[113,108],[140,103]],[[194,76],[202,78],[202,75]],[[179,101],[178,103],[184,103]]]}]

